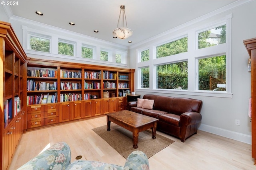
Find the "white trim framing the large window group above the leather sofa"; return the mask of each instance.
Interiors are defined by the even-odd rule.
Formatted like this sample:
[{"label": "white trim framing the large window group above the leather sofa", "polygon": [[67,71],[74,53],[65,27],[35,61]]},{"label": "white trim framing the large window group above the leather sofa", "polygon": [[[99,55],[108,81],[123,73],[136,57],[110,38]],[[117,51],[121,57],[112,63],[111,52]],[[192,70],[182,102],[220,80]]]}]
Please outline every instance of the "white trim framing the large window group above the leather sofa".
[{"label": "white trim framing the large window group above the leather sofa", "polygon": [[[211,96],[211,97],[221,97],[221,98],[232,98],[232,90],[231,90],[231,18],[232,14],[227,15],[226,17],[211,23],[205,23],[203,27],[197,27],[196,29],[188,30],[187,33],[183,33],[183,35],[176,35],[175,37],[166,38],[167,40],[162,40],[162,43],[158,43],[157,45],[149,45],[149,47],[142,47],[137,49],[137,92],[156,92],[156,93],[168,93],[168,94],[182,94],[182,95],[194,95],[194,96]],[[204,53],[205,49],[196,49],[198,47],[198,32],[202,32],[203,30],[208,30],[208,28],[214,28],[214,26],[221,26],[226,24],[226,43],[208,47],[207,50],[210,49],[210,53]],[[210,25],[210,26],[209,26]],[[156,47],[165,44],[170,39],[180,39],[180,37],[187,35],[188,36],[188,52],[180,53],[177,55],[161,57],[156,59]],[[184,36],[185,37],[185,36]],[[175,41],[175,40],[174,40]],[[169,41],[171,42],[171,41]],[[150,61],[140,62],[140,53],[145,49],[150,49]],[[218,50],[217,52],[211,52],[214,50]],[[153,53],[153,54],[152,54]],[[221,54],[226,55],[226,91],[207,91],[207,90],[198,90],[198,59],[200,57],[207,56],[218,56]],[[187,57],[186,57],[187,56]],[[193,56],[193,57],[188,57]],[[155,57],[155,58],[154,58]],[[154,58],[154,59],[153,59]],[[164,58],[164,59],[163,59]],[[174,89],[156,89],[156,65],[166,64],[172,62],[179,62],[182,60],[188,60],[188,90],[174,90]],[[149,66],[150,68],[150,88],[140,88],[140,68],[144,68]],[[193,79],[193,80],[192,80]]]}]

